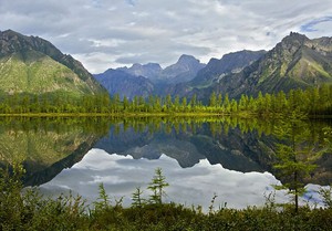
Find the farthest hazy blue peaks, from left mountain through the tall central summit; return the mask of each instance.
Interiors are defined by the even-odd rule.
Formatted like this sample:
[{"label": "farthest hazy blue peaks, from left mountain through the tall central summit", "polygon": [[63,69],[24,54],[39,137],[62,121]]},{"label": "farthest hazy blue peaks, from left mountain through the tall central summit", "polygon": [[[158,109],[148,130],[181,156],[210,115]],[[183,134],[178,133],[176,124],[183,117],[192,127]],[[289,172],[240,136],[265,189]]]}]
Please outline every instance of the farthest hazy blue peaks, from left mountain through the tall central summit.
[{"label": "farthest hazy blue peaks, from left mountain through the tall central summit", "polygon": [[118,67],[95,74],[94,77],[111,95],[120,94],[133,98],[135,95],[147,97],[151,94],[163,94],[166,88],[176,83],[193,80],[201,64],[191,55],[181,55],[177,63],[163,70],[157,63],[138,64],[131,67]]}]

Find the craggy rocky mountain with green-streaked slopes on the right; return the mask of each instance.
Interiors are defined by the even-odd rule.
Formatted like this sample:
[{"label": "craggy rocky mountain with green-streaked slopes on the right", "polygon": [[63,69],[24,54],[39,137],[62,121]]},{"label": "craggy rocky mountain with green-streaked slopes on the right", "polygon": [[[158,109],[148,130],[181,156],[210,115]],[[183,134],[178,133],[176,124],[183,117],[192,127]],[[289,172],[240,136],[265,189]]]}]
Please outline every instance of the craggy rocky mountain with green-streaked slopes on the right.
[{"label": "craggy rocky mountain with green-streaked slopes on the right", "polygon": [[260,60],[240,73],[221,77],[209,90],[240,94],[288,92],[323,83],[332,84],[332,38],[310,40],[299,33],[290,33]]}]

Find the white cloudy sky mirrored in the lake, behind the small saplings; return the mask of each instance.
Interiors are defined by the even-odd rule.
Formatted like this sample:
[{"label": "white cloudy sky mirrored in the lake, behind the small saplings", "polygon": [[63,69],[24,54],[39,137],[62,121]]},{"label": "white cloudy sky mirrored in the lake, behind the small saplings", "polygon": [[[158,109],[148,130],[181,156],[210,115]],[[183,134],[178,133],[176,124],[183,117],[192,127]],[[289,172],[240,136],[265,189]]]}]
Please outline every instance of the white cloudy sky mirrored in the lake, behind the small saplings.
[{"label": "white cloudy sky mirrored in the lake, behind the small saplings", "polygon": [[[81,162],[71,169],[64,169],[50,182],[41,186],[41,191],[49,195],[60,195],[72,190],[89,201],[96,200],[97,188],[102,182],[112,199],[124,197],[124,204],[131,204],[131,196],[136,187],[142,187],[147,197],[147,183],[154,176],[154,170],[160,167],[169,182],[166,188],[167,201],[187,206],[200,204],[205,211],[216,193],[216,207],[227,202],[228,208],[246,208],[247,206],[262,206],[264,193],[273,191],[271,185],[280,183],[269,172],[239,172],[211,166],[208,160],[201,160],[193,168],[180,168],[175,159],[162,156],[157,160],[133,159],[117,155],[110,155],[101,149],[90,150]],[[313,186],[310,186],[313,188]],[[315,200],[317,192],[311,190],[309,196]],[[289,201],[284,192],[276,192],[277,202]]]}]

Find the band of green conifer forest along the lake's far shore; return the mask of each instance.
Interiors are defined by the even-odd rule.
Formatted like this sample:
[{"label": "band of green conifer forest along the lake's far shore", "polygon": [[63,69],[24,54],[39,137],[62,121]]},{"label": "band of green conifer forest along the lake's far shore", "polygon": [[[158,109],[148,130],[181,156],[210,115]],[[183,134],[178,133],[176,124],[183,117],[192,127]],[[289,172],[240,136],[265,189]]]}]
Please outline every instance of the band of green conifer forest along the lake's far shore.
[{"label": "band of green conifer forest along the lake's far shore", "polygon": [[135,96],[120,98],[118,94],[70,97],[58,92],[54,94],[29,95],[13,94],[0,102],[0,114],[214,114],[242,116],[273,116],[299,111],[310,117],[332,115],[332,85],[291,90],[288,93],[261,93],[257,96],[241,95],[229,98],[228,94],[212,92],[206,103],[191,97],[165,97],[151,95],[147,98]]}]

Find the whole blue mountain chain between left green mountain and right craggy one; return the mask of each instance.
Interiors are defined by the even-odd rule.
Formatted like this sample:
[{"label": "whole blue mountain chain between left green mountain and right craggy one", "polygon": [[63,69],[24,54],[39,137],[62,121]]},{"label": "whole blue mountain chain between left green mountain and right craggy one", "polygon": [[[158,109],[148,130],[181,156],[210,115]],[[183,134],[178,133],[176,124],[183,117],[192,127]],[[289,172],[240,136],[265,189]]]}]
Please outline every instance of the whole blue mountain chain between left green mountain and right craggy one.
[{"label": "whole blue mountain chain between left green mountain and right craggy one", "polygon": [[110,69],[94,76],[111,95],[120,94],[121,98],[133,98],[135,95],[147,97],[151,94],[185,96],[195,87],[212,85],[220,75],[241,71],[264,53],[266,51],[239,51],[226,54],[220,60],[211,59],[207,65],[184,54],[164,70],[157,63],[136,63],[131,67]]}]

